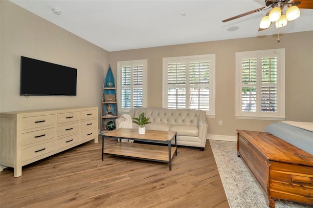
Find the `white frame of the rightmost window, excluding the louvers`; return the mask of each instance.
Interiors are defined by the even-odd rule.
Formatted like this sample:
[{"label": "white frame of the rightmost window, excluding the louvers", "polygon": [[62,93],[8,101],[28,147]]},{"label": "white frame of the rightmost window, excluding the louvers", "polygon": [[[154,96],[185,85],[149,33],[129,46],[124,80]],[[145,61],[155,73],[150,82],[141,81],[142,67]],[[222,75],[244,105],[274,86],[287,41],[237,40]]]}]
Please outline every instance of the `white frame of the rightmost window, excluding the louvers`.
[{"label": "white frame of the rightmost window, excluding the louvers", "polygon": [[[242,110],[242,60],[257,59],[257,91],[261,89],[261,70],[258,65],[259,60],[267,57],[277,57],[277,112],[262,112],[261,107],[257,107],[256,112],[244,112]],[[258,76],[259,75],[259,76]],[[259,88],[259,89],[258,89]],[[259,120],[285,120],[285,48],[236,52],[236,119],[259,119]],[[260,101],[261,94],[257,94],[257,101]],[[260,106],[260,104],[259,104]]]}]

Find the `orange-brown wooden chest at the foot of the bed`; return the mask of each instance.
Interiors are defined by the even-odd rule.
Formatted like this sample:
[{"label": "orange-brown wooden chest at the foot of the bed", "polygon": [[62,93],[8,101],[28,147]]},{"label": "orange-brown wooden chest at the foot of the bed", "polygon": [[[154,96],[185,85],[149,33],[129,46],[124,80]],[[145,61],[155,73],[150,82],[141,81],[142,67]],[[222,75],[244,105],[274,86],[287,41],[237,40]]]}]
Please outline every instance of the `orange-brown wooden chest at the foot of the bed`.
[{"label": "orange-brown wooden chest at the foot of the bed", "polygon": [[269,207],[275,201],[313,205],[313,155],[268,132],[237,130],[237,150]]}]

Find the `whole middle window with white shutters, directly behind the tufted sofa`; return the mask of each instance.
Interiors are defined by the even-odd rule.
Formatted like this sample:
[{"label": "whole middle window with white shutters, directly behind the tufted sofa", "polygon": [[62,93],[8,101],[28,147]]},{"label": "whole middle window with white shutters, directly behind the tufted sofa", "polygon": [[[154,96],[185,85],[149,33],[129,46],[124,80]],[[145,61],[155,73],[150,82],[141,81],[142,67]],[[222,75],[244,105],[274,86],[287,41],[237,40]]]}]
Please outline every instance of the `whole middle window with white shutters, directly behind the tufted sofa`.
[{"label": "whole middle window with white shutters, directly behind the tufted sofa", "polygon": [[163,58],[163,107],[215,117],[215,54]]}]

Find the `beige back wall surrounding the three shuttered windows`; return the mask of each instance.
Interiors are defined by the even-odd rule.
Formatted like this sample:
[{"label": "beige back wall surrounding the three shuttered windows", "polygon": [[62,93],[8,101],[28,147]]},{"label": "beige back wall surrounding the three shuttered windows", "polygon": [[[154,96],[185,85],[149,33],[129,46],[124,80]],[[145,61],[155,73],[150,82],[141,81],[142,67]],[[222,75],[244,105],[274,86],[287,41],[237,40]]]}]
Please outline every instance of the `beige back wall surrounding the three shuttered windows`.
[{"label": "beige back wall surrounding the three shuttered windows", "polygon": [[[208,118],[208,134],[235,136],[236,129],[260,130],[274,122],[235,119],[235,53],[238,51],[286,49],[287,120],[313,122],[313,31],[277,36],[172,45],[110,52],[116,63],[148,60],[148,107],[162,107],[162,58],[216,54],[216,118]],[[304,105],[300,105],[304,104]],[[219,125],[223,121],[223,125]]]}]

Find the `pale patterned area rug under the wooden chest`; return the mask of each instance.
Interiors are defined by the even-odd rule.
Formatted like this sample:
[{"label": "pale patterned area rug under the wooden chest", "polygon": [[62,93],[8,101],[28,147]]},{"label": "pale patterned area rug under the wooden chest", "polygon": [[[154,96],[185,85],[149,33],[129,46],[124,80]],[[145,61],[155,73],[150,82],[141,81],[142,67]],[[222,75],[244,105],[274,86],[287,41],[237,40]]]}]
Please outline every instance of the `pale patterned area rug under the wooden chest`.
[{"label": "pale patterned area rug under the wooden chest", "polygon": [[[231,208],[268,208],[265,198],[244,162],[237,156],[236,142],[210,140],[224,190]],[[275,208],[309,208],[275,201]]]}]

